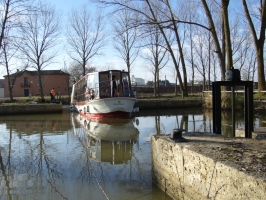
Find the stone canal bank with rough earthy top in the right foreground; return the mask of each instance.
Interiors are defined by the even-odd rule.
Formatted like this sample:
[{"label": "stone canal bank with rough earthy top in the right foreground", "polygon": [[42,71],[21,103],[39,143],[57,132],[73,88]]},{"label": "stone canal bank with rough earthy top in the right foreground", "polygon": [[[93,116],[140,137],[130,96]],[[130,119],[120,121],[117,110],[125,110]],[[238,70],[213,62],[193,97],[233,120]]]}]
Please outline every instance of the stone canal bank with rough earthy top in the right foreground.
[{"label": "stone canal bank with rough earthy top in the right foreground", "polygon": [[265,199],[266,130],[259,131],[253,139],[153,136],[153,181],[174,199]]}]

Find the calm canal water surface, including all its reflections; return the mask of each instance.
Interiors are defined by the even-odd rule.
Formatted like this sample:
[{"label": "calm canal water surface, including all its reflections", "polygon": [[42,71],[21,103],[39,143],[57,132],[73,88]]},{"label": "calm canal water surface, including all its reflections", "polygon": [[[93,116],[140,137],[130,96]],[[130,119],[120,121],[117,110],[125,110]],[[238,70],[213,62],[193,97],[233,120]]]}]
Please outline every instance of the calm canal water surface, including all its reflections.
[{"label": "calm canal water surface, including all its reflections", "polygon": [[[222,114],[230,136],[230,112]],[[243,128],[243,114],[236,128]],[[254,117],[254,126],[265,126]],[[132,119],[58,114],[0,116],[0,199],[171,199],[152,183],[151,137],[174,128],[212,133],[212,113],[151,109]]]}]

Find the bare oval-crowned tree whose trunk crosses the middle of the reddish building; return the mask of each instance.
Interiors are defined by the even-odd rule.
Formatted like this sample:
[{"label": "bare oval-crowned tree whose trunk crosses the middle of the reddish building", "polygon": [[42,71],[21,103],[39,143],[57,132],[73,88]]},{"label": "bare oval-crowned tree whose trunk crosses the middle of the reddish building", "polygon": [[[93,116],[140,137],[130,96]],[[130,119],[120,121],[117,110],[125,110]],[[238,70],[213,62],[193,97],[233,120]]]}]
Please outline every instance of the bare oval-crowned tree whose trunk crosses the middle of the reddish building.
[{"label": "bare oval-crowned tree whose trunk crosses the middle of the reddish building", "polygon": [[20,27],[20,40],[17,47],[25,57],[30,67],[38,72],[38,83],[41,99],[44,101],[42,70],[53,62],[59,44],[61,17],[48,4],[39,3],[39,10],[29,13]]}]

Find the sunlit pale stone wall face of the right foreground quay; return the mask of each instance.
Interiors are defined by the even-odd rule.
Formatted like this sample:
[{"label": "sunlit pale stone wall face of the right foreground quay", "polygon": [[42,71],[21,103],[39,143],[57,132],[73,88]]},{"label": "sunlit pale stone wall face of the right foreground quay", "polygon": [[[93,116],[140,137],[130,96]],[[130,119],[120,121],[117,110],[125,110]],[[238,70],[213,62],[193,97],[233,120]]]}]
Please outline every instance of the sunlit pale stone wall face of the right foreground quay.
[{"label": "sunlit pale stone wall face of the right foreground quay", "polygon": [[[265,173],[257,177],[248,174],[247,166],[238,166],[232,152],[223,156],[228,154],[224,149],[234,144],[217,138],[175,143],[169,136],[154,136],[153,181],[174,199],[265,199]],[[232,163],[228,164],[230,157]]]}]

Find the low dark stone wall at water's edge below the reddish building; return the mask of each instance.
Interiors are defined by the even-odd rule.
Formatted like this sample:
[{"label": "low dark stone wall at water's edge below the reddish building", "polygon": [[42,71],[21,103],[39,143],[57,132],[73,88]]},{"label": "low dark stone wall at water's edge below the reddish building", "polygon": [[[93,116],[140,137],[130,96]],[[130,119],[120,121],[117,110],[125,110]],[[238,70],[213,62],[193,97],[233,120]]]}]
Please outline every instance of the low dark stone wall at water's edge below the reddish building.
[{"label": "low dark stone wall at water's edge below the reddish building", "polygon": [[33,114],[62,112],[62,104],[29,104],[29,105],[2,105],[0,106],[0,115],[4,114]]}]

